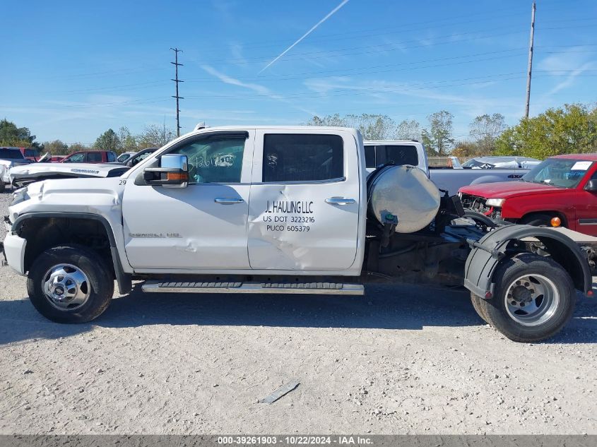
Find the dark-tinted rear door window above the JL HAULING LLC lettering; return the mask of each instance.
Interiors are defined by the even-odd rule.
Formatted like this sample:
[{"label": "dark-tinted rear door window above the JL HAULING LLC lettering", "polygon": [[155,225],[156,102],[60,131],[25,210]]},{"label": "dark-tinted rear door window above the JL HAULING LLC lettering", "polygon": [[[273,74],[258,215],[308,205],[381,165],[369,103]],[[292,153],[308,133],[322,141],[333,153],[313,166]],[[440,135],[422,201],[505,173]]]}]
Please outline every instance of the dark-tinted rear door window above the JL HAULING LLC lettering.
[{"label": "dark-tinted rear door window above the JL HAULING LLC lettering", "polygon": [[341,136],[268,133],[264,137],[264,182],[323,181],[342,177]]}]

